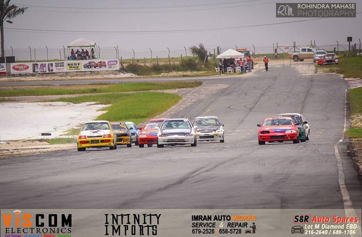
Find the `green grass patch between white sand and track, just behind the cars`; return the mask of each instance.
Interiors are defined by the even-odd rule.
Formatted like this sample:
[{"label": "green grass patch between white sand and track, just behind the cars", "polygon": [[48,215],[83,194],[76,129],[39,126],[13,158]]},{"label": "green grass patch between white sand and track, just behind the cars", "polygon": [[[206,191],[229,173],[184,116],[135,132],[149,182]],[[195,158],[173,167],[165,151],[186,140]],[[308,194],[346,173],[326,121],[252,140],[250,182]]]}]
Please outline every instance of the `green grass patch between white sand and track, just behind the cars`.
[{"label": "green grass patch between white sand and track, just behind the cars", "polygon": [[[52,101],[72,103],[96,102],[109,104],[96,120],[133,121],[136,124],[163,113],[175,105],[181,96],[162,92],[138,92],[132,94],[89,95],[72,98],[61,98]],[[77,135],[79,129],[73,129],[65,135]]]}]

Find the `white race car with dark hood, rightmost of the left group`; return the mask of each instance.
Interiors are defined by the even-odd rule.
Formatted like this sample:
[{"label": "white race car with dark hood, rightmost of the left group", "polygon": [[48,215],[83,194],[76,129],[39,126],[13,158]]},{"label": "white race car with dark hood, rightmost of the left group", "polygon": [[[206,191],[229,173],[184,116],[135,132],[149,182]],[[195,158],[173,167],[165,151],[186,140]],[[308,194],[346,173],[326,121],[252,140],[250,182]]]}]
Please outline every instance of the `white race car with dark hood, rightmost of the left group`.
[{"label": "white race car with dark hood, rightmost of the left group", "polygon": [[193,121],[199,141],[219,140],[224,142],[224,124],[216,116],[196,117]]}]

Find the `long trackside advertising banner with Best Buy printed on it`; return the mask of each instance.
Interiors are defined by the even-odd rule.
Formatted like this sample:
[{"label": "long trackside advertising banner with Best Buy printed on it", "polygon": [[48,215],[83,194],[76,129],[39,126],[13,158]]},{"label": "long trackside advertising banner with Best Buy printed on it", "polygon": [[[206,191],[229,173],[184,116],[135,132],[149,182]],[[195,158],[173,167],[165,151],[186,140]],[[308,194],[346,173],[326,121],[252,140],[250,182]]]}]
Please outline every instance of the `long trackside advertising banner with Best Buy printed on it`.
[{"label": "long trackside advertising banner with Best Buy printed on it", "polygon": [[119,70],[118,59],[11,63],[11,74]]}]

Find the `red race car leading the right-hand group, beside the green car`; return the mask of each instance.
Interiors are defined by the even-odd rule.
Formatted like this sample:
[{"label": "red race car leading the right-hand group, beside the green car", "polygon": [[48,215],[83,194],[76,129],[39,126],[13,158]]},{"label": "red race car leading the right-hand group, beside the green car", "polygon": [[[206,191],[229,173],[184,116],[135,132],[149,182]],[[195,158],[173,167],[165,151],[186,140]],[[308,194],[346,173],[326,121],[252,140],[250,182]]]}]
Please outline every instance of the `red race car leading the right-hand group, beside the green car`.
[{"label": "red race car leading the right-hand group, beside the green car", "polygon": [[265,142],[283,142],[293,141],[299,143],[298,127],[299,122],[295,123],[291,117],[269,117],[264,119],[258,131],[259,145],[265,145]]}]

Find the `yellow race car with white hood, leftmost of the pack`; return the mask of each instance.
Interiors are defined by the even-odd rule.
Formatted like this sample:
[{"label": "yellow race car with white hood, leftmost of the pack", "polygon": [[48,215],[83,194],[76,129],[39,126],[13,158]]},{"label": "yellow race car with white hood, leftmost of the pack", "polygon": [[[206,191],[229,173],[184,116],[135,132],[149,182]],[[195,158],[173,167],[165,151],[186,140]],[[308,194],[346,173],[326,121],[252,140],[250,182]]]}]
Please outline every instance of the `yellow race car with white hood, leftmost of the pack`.
[{"label": "yellow race car with white hood, leftmost of the pack", "polygon": [[117,149],[115,138],[115,132],[108,121],[85,122],[78,136],[78,151],[97,147],[109,147],[109,150]]}]

